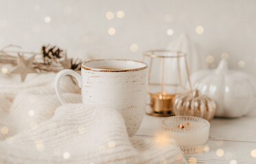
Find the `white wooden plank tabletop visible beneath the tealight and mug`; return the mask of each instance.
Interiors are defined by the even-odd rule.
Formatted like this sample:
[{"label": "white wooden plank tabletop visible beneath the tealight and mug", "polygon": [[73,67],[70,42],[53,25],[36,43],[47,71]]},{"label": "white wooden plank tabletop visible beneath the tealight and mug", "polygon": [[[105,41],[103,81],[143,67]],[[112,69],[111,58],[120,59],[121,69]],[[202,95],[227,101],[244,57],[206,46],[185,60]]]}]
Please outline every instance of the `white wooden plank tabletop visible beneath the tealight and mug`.
[{"label": "white wooden plank tabletop visible beneath the tealight and mug", "polygon": [[[162,120],[146,114],[135,136],[156,136],[161,131]],[[256,117],[214,118],[210,123],[209,152],[185,154],[187,160],[194,157],[196,163],[256,163],[251,155],[252,150],[256,151]]]}]

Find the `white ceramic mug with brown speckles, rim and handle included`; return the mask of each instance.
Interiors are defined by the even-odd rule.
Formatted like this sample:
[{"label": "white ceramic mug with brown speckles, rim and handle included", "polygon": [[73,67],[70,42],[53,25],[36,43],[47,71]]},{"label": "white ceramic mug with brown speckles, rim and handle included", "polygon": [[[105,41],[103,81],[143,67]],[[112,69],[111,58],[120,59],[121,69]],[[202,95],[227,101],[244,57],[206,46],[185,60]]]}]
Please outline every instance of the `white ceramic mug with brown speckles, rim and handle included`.
[{"label": "white ceramic mug with brown speckles, rim and handle included", "polygon": [[81,76],[73,70],[61,70],[55,78],[60,102],[67,103],[60,92],[60,79],[71,75],[82,90],[82,103],[110,107],[121,112],[130,136],[134,135],[146,110],[148,66],[141,61],[98,59],[82,63]]}]

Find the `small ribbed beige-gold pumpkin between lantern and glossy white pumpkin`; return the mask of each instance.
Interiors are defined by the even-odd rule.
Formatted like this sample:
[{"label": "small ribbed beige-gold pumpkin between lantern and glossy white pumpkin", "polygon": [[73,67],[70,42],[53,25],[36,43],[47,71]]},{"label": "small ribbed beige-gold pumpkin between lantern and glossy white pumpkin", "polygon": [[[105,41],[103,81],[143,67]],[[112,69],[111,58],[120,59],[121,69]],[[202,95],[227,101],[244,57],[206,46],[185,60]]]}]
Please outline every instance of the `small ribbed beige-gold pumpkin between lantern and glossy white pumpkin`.
[{"label": "small ribbed beige-gold pumpkin between lantern and glossy white pumpkin", "polygon": [[200,95],[198,90],[181,94],[174,99],[175,115],[192,115],[211,120],[216,111],[216,102],[207,96]]}]

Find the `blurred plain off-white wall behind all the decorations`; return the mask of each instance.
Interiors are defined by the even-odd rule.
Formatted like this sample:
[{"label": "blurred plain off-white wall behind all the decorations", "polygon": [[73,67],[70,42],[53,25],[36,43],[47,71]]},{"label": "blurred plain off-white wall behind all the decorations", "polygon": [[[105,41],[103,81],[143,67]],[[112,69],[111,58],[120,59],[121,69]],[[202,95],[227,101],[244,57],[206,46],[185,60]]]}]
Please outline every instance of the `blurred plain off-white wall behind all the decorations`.
[{"label": "blurred plain off-white wall behind all the decorations", "polygon": [[186,33],[210,68],[229,57],[230,68],[256,75],[255,9],[253,0],[0,0],[0,47],[140,60]]}]

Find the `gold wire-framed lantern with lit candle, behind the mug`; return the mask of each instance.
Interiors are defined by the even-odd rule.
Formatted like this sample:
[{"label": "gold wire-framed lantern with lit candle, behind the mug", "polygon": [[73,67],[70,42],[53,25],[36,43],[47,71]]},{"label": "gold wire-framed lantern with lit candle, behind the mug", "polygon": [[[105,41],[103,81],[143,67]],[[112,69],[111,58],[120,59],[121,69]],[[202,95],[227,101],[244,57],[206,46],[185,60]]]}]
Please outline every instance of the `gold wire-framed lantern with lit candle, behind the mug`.
[{"label": "gold wire-framed lantern with lit candle, behind the mug", "polygon": [[191,91],[186,54],[181,51],[153,50],[144,52],[142,60],[149,66],[150,102],[146,113],[174,115],[175,96]]}]

